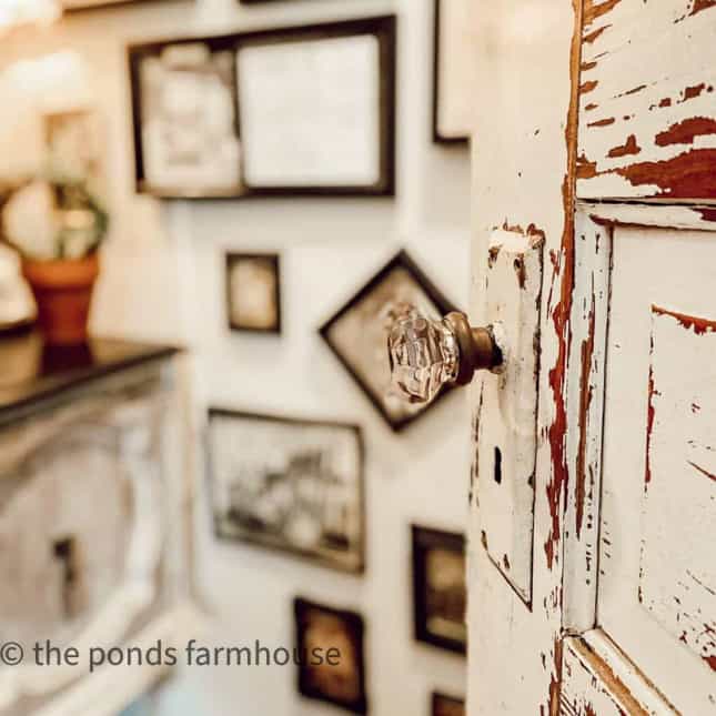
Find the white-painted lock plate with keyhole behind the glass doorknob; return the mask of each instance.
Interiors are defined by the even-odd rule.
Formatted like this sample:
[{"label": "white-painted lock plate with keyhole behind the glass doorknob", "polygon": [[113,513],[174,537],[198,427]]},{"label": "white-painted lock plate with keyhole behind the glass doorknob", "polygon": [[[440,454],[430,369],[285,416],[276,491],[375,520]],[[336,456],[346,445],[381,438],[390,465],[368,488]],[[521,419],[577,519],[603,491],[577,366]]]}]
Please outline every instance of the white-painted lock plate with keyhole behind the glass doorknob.
[{"label": "white-painted lock plate with keyhole behind the glass doorknob", "polygon": [[532,599],[532,535],[537,443],[541,235],[496,230],[490,238],[485,320],[503,366],[483,379],[477,415],[481,541],[520,596]]}]

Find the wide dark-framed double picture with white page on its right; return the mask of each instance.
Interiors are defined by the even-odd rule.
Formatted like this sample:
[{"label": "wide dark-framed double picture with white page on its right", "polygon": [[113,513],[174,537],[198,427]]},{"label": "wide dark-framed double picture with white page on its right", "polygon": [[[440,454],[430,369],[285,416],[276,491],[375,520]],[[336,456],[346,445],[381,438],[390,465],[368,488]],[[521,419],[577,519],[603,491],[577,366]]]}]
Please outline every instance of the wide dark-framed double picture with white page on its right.
[{"label": "wide dark-framed double picture with white page on its right", "polygon": [[134,44],[128,57],[139,193],[395,194],[395,16]]}]

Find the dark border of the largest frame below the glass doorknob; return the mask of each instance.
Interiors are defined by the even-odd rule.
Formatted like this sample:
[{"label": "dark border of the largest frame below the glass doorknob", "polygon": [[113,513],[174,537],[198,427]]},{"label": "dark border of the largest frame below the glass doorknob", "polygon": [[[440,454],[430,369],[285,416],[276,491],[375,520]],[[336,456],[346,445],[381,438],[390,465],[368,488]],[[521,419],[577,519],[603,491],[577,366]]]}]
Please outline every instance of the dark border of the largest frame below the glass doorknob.
[{"label": "dark border of the largest frame below the glass doorknob", "polygon": [[[343,553],[340,549],[323,548],[310,549],[305,546],[300,546],[292,544],[288,538],[281,536],[271,536],[268,534],[261,533],[261,527],[259,524],[251,525],[249,527],[232,524],[231,515],[228,513],[224,515],[216,510],[215,496],[219,488],[219,461],[215,455],[214,450],[212,450],[212,426],[216,423],[218,420],[228,418],[228,420],[246,420],[254,421],[259,425],[283,425],[286,427],[294,427],[299,432],[310,431],[311,428],[330,428],[340,432],[345,432],[354,443],[355,448],[355,471],[356,471],[356,484],[355,484],[355,504],[354,508],[356,511],[356,524],[355,528],[357,534],[355,535],[354,542],[351,545],[352,549],[350,551],[349,557],[342,556]],[[234,438],[235,440],[235,438]],[[205,435],[206,443],[206,474],[209,478],[209,494],[212,505],[212,516],[214,524],[214,535],[216,538],[225,539],[229,542],[241,542],[249,544],[255,547],[262,547],[265,549],[271,549],[276,553],[283,553],[285,555],[291,555],[294,557],[300,557],[306,562],[320,565],[323,567],[330,567],[337,572],[344,572],[347,574],[362,575],[365,572],[365,447],[363,441],[363,432],[360,425],[353,423],[343,423],[336,421],[319,421],[319,420],[307,420],[303,417],[292,417],[285,415],[268,414],[268,413],[253,413],[248,411],[238,411],[225,407],[210,407],[208,412],[208,428]],[[275,448],[275,442],[272,443],[272,447]],[[310,457],[310,456],[309,456]],[[306,462],[309,466],[306,467]],[[309,471],[311,466],[315,465],[315,461],[309,461],[303,458],[304,470]],[[278,482],[275,474],[270,475],[271,481],[274,483]],[[229,511],[228,511],[229,512]],[[251,515],[250,515],[251,521]],[[336,541],[333,541],[336,543]]]}]

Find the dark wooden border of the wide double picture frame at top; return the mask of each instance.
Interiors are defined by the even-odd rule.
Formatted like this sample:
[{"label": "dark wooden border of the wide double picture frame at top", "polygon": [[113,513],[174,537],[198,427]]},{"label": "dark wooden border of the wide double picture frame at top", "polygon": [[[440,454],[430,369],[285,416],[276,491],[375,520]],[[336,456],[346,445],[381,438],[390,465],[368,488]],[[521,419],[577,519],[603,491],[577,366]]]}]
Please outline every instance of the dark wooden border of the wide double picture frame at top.
[{"label": "dark wooden border of the wide double picture frame at top", "polygon": [[[140,64],[149,56],[173,44],[203,42],[212,52],[228,50],[233,52],[234,64],[232,94],[236,110],[236,135],[241,141],[241,108],[236,90],[236,52],[249,44],[272,44],[280,42],[314,41],[326,38],[350,38],[374,34],[380,43],[380,91],[381,91],[381,179],[374,185],[336,186],[248,186],[242,183],[235,190],[215,191],[172,188],[152,188],[144,181],[142,132],[141,132],[141,87]],[[177,38],[128,47],[128,60],[132,98],[132,123],[134,138],[134,175],[138,193],[148,193],[160,199],[250,199],[255,196],[393,196],[395,194],[395,83],[396,83],[396,17],[379,16],[326,22],[319,24],[292,26],[270,30],[258,30],[214,37]],[[243,172],[241,172],[243,174]]]}]

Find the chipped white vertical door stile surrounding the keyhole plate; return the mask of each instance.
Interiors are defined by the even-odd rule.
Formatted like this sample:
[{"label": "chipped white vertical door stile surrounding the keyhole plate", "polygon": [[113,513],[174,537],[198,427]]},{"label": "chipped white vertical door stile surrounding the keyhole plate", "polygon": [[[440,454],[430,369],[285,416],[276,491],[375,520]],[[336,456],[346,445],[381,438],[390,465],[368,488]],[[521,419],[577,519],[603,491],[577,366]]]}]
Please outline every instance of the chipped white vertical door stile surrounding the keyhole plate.
[{"label": "chipped white vertical door stile surrounding the keyhole plate", "polygon": [[[546,716],[554,714],[558,704],[562,668],[564,510],[558,441],[555,438],[556,450],[553,451],[549,438],[562,389],[559,380],[553,389],[549,373],[561,353],[562,329],[556,329],[553,312],[561,301],[565,275],[555,271],[549,260],[552,255],[562,255],[563,236],[569,235],[572,221],[569,142],[565,139],[565,124],[572,117],[569,61],[578,19],[568,1],[473,0],[473,4],[477,77],[472,144],[471,323],[485,325],[490,322],[485,275],[495,228],[512,226],[518,234],[544,235],[545,275],[539,309],[541,365],[536,376],[532,608],[512,588],[484,548],[481,536],[485,521],[491,520],[490,508],[473,502],[468,533],[467,713],[471,716]],[[564,265],[566,263],[565,260]],[[511,271],[514,280],[514,266]],[[533,310],[536,313],[537,306]],[[496,379],[488,374],[476,376],[471,386],[475,413],[485,380]],[[486,426],[493,422],[497,424],[502,420],[498,406],[483,410],[481,420]],[[557,427],[553,434],[561,432]],[[494,445],[492,447],[494,450]],[[490,458],[490,455],[485,457]],[[492,460],[490,463],[487,473],[477,476],[480,483],[493,480]],[[495,556],[502,558],[503,555],[495,552]]]}]

